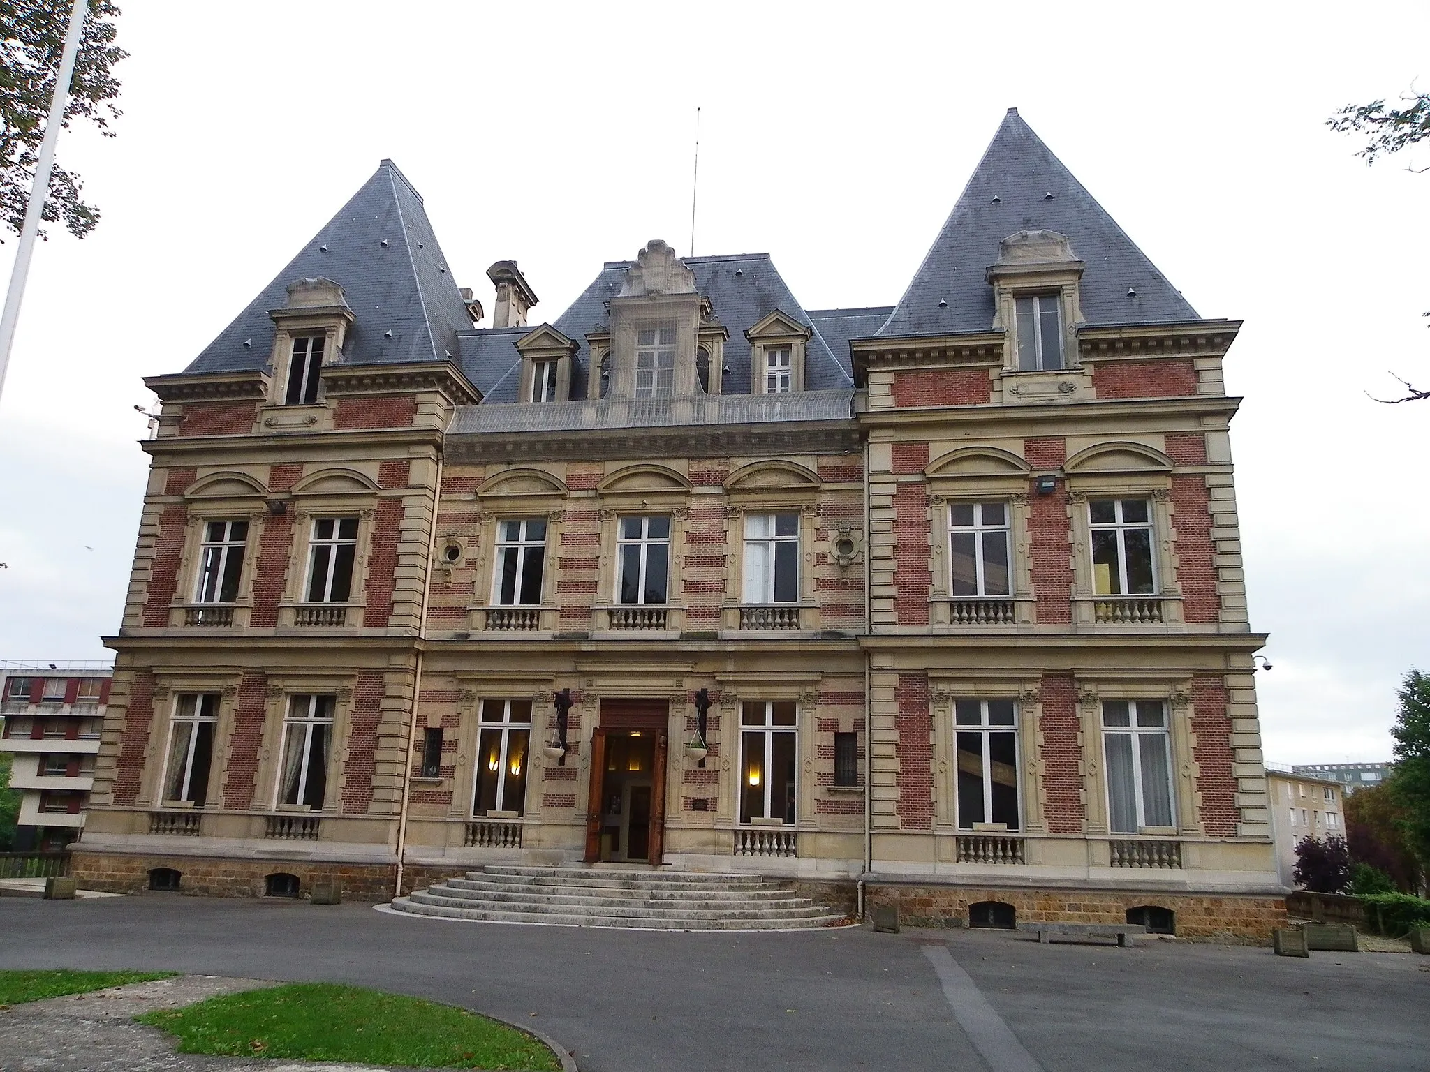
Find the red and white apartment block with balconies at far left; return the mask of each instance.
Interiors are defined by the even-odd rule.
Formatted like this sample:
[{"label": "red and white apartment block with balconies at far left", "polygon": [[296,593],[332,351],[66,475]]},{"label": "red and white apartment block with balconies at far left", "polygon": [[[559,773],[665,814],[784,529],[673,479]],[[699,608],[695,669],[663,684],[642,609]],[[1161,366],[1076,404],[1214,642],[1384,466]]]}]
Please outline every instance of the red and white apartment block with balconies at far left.
[{"label": "red and white apartment block with balconies at far left", "polygon": [[24,793],[16,850],[60,850],[84,829],[110,676],[107,663],[0,662],[0,752]]}]

